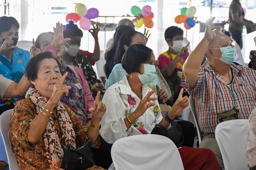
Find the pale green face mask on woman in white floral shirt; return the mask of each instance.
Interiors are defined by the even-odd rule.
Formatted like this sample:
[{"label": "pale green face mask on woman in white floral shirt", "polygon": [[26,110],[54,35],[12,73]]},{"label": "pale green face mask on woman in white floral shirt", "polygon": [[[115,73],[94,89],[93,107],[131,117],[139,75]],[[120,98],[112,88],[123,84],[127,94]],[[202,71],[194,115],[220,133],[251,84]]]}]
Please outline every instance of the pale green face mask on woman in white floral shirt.
[{"label": "pale green face mask on woman in white floral shirt", "polygon": [[155,79],[156,70],[154,65],[144,64],[143,66],[144,66],[144,73],[139,74],[138,76],[142,84],[145,85],[145,84],[151,83]]}]

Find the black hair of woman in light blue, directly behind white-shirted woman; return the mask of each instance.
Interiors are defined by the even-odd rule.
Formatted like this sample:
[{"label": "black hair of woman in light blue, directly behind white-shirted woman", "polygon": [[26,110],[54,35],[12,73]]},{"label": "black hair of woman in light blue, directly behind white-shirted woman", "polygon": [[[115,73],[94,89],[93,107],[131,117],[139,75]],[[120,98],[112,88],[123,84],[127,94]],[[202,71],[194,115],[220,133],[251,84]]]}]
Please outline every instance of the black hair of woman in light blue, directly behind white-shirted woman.
[{"label": "black hair of woman in light blue, directly behind white-shirted woman", "polygon": [[[133,42],[133,37],[136,34],[143,35],[141,32],[138,32],[135,30],[130,30],[130,31],[126,31],[125,33],[123,33],[123,35],[120,37],[120,39],[118,40],[116,55],[114,56],[114,64],[121,63],[123,54],[125,52],[125,49],[123,48],[123,46],[126,45],[129,47],[131,45],[131,43]],[[143,37],[144,37],[144,35],[143,35]]]}]

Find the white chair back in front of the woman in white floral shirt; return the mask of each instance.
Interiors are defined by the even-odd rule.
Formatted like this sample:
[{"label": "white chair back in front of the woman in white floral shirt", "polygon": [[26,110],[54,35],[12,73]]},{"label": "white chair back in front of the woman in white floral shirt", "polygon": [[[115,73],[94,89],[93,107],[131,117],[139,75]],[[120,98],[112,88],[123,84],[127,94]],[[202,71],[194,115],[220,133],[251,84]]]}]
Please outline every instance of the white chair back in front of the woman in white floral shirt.
[{"label": "white chair back in front of the woman in white floral shirt", "polygon": [[116,170],[184,170],[175,144],[161,135],[134,135],[118,139],[111,149]]}]

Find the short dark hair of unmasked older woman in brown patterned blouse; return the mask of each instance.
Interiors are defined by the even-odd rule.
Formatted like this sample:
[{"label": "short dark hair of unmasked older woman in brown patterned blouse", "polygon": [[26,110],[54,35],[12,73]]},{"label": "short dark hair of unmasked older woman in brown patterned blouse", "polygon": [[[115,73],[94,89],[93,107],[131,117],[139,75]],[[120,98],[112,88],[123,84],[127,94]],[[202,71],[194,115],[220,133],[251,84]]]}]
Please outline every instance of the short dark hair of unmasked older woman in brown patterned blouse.
[{"label": "short dark hair of unmasked older woman in brown patterned blouse", "polygon": [[30,61],[27,64],[25,75],[27,76],[27,79],[30,81],[35,81],[37,79],[37,73],[40,67],[41,62],[44,59],[54,59],[61,71],[61,64],[58,62],[58,60],[52,55],[51,52],[42,52],[33,58],[30,59]]}]

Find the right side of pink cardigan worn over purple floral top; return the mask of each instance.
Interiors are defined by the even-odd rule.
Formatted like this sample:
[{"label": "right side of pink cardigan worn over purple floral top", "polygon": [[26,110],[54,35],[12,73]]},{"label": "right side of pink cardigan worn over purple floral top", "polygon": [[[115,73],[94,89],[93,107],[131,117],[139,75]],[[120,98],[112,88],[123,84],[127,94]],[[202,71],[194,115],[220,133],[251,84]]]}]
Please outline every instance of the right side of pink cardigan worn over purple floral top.
[{"label": "right side of pink cardigan worn over purple floral top", "polygon": [[84,108],[86,109],[87,120],[88,120],[88,119],[92,118],[92,112],[90,112],[89,109],[94,106],[94,99],[92,97],[92,93],[90,91],[89,84],[86,81],[85,76],[83,75],[82,68],[76,67],[76,66],[73,66],[73,67],[78,75],[79,81],[81,82],[81,84],[83,86],[83,93],[84,93],[84,97],[83,97],[84,104],[83,105],[84,105]]}]

